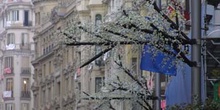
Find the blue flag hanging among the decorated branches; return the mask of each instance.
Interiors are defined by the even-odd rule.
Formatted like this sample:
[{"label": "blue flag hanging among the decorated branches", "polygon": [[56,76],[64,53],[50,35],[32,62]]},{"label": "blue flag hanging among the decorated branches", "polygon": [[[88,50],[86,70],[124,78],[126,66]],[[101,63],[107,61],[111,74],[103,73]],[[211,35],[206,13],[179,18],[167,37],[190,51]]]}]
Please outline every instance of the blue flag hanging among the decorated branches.
[{"label": "blue flag hanging among the decorated branches", "polygon": [[175,56],[165,54],[152,45],[145,45],[140,68],[141,70],[175,76],[175,59]]}]

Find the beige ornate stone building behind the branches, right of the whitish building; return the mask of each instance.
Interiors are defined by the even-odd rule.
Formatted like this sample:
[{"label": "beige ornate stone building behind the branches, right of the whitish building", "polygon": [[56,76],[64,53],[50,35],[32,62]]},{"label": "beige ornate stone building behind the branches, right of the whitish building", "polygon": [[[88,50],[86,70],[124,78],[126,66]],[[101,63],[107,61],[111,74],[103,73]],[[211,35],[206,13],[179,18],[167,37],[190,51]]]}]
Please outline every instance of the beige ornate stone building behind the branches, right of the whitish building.
[{"label": "beige ornate stone building behind the branches, right of the whitish building", "polygon": [[[35,110],[91,110],[97,101],[86,99],[86,94],[98,94],[105,79],[113,73],[121,73],[114,61],[100,58],[81,69],[79,67],[100,51],[98,46],[66,46],[68,33],[62,30],[72,22],[93,22],[94,27],[102,21],[114,20],[113,13],[128,6],[130,0],[33,0],[35,12],[35,60],[32,62],[34,83],[32,91]],[[108,19],[104,19],[109,16]],[[86,41],[86,33],[74,34],[77,41]],[[129,51],[132,46],[122,46]],[[125,57],[126,65],[139,72],[140,54]],[[115,66],[115,67],[112,67]],[[122,76],[124,80],[129,78]],[[129,101],[112,102],[117,110],[132,110]]]}]

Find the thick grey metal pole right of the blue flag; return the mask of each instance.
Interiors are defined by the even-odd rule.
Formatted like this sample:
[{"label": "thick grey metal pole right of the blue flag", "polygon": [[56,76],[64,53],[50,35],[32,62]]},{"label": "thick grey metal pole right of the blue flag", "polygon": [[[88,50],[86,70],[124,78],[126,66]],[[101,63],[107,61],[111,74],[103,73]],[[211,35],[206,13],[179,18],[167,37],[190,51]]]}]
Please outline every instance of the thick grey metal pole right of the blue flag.
[{"label": "thick grey metal pole right of the blue flag", "polygon": [[197,41],[192,45],[192,61],[197,62],[196,67],[192,67],[192,103],[201,102],[201,0],[191,0],[191,20],[192,39]]}]

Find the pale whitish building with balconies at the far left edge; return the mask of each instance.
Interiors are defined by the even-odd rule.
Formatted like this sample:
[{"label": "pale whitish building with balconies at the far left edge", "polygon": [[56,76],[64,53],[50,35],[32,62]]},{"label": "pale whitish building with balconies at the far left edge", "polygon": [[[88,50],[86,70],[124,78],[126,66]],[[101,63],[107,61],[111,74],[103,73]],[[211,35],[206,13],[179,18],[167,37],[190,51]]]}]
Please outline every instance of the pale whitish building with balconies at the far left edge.
[{"label": "pale whitish building with balconies at the far left edge", "polygon": [[32,109],[31,0],[0,0],[0,110]]}]

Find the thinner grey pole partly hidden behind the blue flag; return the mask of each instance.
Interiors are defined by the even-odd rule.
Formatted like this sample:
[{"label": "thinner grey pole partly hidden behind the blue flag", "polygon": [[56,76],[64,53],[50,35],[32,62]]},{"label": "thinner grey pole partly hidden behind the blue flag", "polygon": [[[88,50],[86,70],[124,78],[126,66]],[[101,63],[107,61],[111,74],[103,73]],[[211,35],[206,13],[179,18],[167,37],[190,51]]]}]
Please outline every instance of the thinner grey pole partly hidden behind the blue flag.
[{"label": "thinner grey pole partly hidden behind the blue flag", "polygon": [[[156,0],[158,8],[161,9],[161,0]],[[161,110],[161,82],[160,73],[156,73],[155,79],[155,95],[158,99],[155,101],[155,110]]]}]

